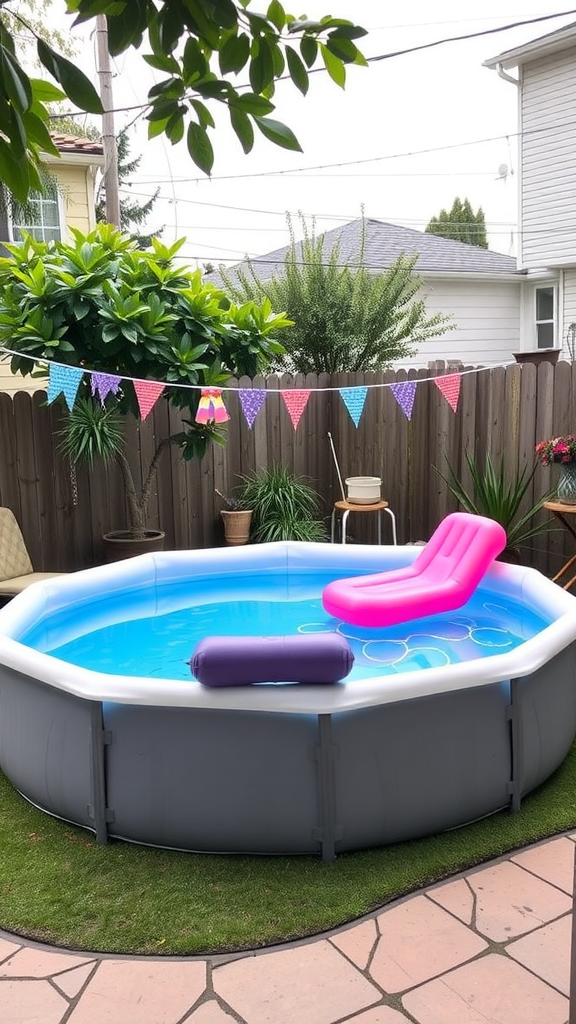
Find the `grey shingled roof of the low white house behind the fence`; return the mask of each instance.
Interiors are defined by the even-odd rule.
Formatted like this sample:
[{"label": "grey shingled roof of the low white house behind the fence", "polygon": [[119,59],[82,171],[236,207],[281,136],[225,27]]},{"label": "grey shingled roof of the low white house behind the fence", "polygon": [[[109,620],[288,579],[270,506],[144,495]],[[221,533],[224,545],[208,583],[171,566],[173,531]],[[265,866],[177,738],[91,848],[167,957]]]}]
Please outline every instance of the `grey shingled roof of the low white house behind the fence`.
[{"label": "grey shingled roof of the low white house behind the fence", "polygon": [[[453,242],[439,234],[428,234],[412,227],[401,227],[399,224],[388,224],[382,220],[367,219],[366,245],[364,250],[364,265],[370,270],[385,270],[399,256],[418,254],[416,270],[420,273],[470,273],[470,274],[509,274],[519,273],[513,256],[503,256],[501,253],[470,246],[464,242]],[[358,264],[362,238],[362,220],[352,220],[342,227],[334,227],[326,231],[324,252],[328,255],[339,243],[340,260],[342,263]],[[276,249],[264,256],[256,256],[250,260],[254,272],[261,280],[272,276],[276,266],[283,266],[289,246]],[[296,245],[298,255],[301,255],[301,242]],[[247,262],[237,263],[230,268],[243,269]],[[214,280],[214,275],[208,275]]]}]

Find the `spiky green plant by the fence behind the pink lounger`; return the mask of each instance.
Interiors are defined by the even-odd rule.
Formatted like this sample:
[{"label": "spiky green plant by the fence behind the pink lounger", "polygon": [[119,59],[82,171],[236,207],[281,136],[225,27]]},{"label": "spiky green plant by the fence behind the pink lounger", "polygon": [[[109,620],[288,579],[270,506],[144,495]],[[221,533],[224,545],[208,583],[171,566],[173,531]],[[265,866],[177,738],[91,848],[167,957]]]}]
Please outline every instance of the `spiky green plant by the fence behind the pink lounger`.
[{"label": "spiky green plant by the fence behind the pink lounger", "polygon": [[549,495],[544,495],[526,511],[522,508],[537,466],[525,466],[508,479],[503,460],[500,460],[496,468],[489,454],[486,456],[484,466],[479,466],[466,453],[466,464],[472,483],[471,492],[466,490],[450,464],[448,464],[448,477],[444,476],[436,466],[434,468],[465,512],[487,516],[504,527],[507,544],[499,558],[502,561],[519,562],[520,546],[551,528],[550,520],[531,524],[533,517],[540,511]]}]

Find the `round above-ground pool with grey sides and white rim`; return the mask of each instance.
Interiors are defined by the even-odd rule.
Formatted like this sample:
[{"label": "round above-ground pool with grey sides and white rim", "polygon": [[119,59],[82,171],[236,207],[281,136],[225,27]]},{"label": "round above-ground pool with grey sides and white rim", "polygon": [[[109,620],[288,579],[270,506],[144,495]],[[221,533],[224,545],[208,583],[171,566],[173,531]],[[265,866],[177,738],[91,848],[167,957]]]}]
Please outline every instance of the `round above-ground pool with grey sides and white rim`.
[{"label": "round above-ground pool with grey sides and white rim", "polygon": [[[34,585],[0,611],[0,768],[99,842],[195,851],[330,859],[519,807],[576,732],[576,600],[494,563],[444,616],[376,630],[323,610],[330,581],[418,553],[164,552]],[[355,654],[332,685],[191,675],[207,636],[326,632]]]}]

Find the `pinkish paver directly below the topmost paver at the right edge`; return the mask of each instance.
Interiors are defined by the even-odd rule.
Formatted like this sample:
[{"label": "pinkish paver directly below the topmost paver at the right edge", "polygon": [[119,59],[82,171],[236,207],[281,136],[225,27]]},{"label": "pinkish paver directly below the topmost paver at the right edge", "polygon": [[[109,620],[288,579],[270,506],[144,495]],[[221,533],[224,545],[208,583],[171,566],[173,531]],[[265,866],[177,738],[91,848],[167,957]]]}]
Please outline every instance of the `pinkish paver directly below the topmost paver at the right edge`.
[{"label": "pinkish paver directly below the topmost paver at the right edge", "polygon": [[477,894],[476,928],[494,942],[525,935],[572,909],[566,893],[510,861],[475,871],[468,882]]}]

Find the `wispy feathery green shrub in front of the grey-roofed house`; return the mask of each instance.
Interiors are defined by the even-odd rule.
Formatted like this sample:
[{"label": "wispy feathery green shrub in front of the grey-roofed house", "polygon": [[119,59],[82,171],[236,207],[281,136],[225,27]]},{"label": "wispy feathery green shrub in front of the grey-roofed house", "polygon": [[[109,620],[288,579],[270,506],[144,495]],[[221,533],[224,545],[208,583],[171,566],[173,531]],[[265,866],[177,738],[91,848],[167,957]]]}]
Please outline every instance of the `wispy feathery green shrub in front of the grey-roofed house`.
[{"label": "wispy feathery green shrub in front of the grey-roofed house", "polygon": [[379,272],[364,266],[366,223],[363,221],[358,255],[348,265],[340,246],[325,252],[325,236],[316,238],[305,224],[302,243],[291,242],[284,268],[261,281],[248,270],[220,269],[236,300],[269,299],[273,308],[286,310],[293,327],[282,338],[285,352],[275,360],[289,373],[344,373],[382,370],[394,359],[411,355],[426,338],[452,330],[443,313],[427,315],[418,298],[422,281],[415,273],[417,256],[400,256]]}]

